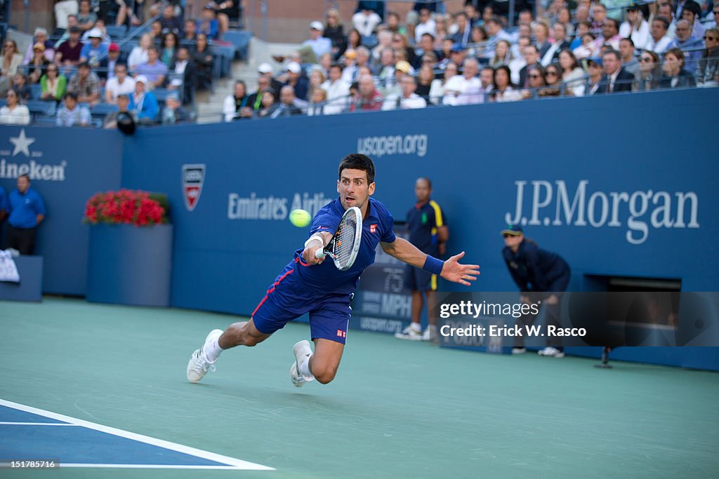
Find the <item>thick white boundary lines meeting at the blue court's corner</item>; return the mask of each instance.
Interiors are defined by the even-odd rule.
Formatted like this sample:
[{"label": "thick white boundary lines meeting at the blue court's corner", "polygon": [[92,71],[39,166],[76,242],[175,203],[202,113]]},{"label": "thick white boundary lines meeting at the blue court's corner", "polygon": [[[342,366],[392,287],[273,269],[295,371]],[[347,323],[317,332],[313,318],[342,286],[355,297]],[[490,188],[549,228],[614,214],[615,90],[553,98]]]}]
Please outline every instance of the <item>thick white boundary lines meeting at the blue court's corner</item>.
[{"label": "thick white boundary lines meeting at the blue court's corner", "polygon": [[[134,440],[138,442],[145,442],[145,444],[162,447],[164,449],[168,449],[175,452],[182,452],[183,454],[192,455],[195,457],[201,457],[202,459],[211,460],[215,462],[221,462],[223,464],[226,464],[227,466],[193,466],[193,465],[170,465],[170,466],[163,466],[163,465],[148,465],[148,468],[171,468],[171,469],[208,469],[208,468],[228,468],[228,469],[243,469],[243,470],[275,470],[275,468],[270,468],[269,466],[257,464],[255,462],[248,462],[244,461],[242,459],[237,459],[235,457],[229,457],[221,454],[216,454],[214,452],[204,451],[201,449],[196,449],[195,447],[189,447],[186,445],[177,444],[175,442],[169,442],[164,441],[161,439],[157,439],[155,437],[150,436],[144,436],[142,434],[135,434],[134,432],[124,431],[122,429],[116,429],[114,427],[109,426],[103,426],[102,424],[96,424],[94,422],[84,421],[83,419],[78,419],[76,417],[70,417],[65,416],[63,414],[58,414],[56,412],[52,411],[45,411],[45,409],[37,409],[32,406],[25,406],[24,404],[18,404],[12,401],[6,401],[4,399],[0,399],[0,406],[6,406],[10,407],[12,409],[18,409],[19,411],[25,411],[29,412],[31,414],[37,414],[39,416],[49,417],[50,419],[56,419],[58,421],[64,421],[69,422],[70,424],[75,424],[76,426],[82,426],[86,427],[88,429],[94,429],[99,432],[105,432],[107,434],[112,434],[114,436],[118,437],[124,437],[129,440]],[[63,467],[70,467],[68,464],[63,464]],[[74,467],[78,468],[142,468],[145,467],[143,465],[127,465],[127,464],[118,464],[118,465],[111,465],[111,464],[105,464],[105,465],[94,465],[94,464],[84,464],[84,465],[75,465]]]}]

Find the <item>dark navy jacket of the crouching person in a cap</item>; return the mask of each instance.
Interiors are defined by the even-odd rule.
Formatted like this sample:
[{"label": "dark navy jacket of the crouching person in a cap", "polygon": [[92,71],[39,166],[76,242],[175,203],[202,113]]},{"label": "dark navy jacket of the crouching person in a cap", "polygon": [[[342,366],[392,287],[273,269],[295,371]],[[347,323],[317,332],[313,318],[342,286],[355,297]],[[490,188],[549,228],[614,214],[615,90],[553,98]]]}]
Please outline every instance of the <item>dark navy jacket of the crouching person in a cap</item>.
[{"label": "dark navy jacket of the crouching person in a cap", "polygon": [[569,265],[556,253],[539,248],[526,239],[517,254],[502,250],[507,269],[521,292],[562,292],[569,284]]}]

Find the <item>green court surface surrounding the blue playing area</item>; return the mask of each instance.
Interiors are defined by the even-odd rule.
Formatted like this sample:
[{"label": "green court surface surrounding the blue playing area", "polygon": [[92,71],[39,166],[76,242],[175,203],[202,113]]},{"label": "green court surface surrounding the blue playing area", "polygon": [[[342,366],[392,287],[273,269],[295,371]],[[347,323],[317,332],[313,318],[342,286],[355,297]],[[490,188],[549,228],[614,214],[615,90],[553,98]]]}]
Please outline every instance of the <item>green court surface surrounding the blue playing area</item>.
[{"label": "green court surface surrounding the blue playing area", "polygon": [[[585,358],[490,355],[350,330],[336,380],[290,384],[290,324],[188,359],[237,320],[45,298],[0,302],[0,399],[275,471],[0,470],[42,478],[717,477],[719,375]],[[60,457],[62,460],[62,457]]]}]

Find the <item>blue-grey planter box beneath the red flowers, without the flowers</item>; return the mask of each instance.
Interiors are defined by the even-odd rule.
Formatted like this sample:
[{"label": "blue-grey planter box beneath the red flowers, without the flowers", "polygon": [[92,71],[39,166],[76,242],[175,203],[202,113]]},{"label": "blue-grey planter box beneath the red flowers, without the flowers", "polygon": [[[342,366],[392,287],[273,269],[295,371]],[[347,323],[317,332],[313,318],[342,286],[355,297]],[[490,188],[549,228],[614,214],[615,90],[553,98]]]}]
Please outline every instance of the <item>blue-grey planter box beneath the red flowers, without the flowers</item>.
[{"label": "blue-grey planter box beneath the red flowers, without the flowers", "polygon": [[87,300],[170,305],[172,225],[91,225]]}]

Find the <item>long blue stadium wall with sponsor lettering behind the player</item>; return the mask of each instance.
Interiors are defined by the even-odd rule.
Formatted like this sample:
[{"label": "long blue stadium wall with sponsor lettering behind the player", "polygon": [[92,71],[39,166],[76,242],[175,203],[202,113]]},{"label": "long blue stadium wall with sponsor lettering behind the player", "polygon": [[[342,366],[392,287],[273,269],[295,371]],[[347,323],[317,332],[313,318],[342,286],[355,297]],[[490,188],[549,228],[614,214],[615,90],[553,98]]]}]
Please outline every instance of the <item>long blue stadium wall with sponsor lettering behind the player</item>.
[{"label": "long blue stadium wall with sponsor lettering behind the player", "polygon": [[[247,315],[306,238],[289,211],[333,199],[339,159],[357,151],[375,159],[375,197],[397,220],[414,203],[416,177],[433,180],[449,251],[467,251],[482,266],[473,289],[515,289],[498,231],[517,220],[567,259],[572,290],[601,287],[597,276],[636,276],[718,291],[717,111],[719,88],[175,126],[128,137],[25,127],[35,139],[30,155],[65,165],[63,180],[34,183],[48,203],[38,248],[45,291],[84,293],[84,202],[122,185],[170,197],[173,306]],[[21,131],[0,127],[0,161],[29,164],[10,141]],[[197,164],[203,184],[190,210],[183,165]],[[14,181],[6,176],[0,168],[8,189]]]}]

